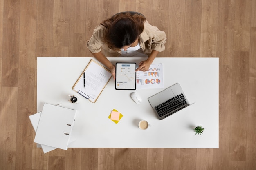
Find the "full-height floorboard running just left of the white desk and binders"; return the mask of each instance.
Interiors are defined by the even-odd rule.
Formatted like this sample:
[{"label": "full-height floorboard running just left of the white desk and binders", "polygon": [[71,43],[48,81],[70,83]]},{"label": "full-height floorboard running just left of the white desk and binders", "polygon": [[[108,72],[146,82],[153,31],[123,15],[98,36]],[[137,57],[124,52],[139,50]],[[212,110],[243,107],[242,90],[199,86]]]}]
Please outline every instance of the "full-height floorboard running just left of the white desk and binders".
[{"label": "full-height floorboard running just left of the white desk and binders", "polygon": [[16,170],[32,167],[32,157],[25,153],[32,152],[34,130],[25,122],[34,114],[34,90],[30,90],[35,85],[36,5],[36,1],[20,2]]}]

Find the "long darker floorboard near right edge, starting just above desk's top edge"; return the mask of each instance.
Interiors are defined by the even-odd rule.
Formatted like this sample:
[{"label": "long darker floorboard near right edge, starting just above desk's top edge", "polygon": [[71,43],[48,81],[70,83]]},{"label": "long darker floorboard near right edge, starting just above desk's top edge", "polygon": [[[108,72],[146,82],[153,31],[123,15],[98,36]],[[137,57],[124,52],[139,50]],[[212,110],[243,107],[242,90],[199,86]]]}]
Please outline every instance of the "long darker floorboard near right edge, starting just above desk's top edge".
[{"label": "long darker floorboard near right edge, starting just above desk's top edge", "polygon": [[247,143],[249,52],[235,52],[234,54],[229,166],[231,169],[243,169]]}]

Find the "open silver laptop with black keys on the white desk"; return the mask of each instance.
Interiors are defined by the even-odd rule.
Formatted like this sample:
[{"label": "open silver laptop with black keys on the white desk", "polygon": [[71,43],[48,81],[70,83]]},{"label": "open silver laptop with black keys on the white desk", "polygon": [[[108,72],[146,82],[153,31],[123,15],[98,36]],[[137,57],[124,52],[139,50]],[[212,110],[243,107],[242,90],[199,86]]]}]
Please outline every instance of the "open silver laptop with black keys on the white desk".
[{"label": "open silver laptop with black keys on the white desk", "polygon": [[189,102],[179,83],[149,97],[148,101],[160,120],[189,106]]}]

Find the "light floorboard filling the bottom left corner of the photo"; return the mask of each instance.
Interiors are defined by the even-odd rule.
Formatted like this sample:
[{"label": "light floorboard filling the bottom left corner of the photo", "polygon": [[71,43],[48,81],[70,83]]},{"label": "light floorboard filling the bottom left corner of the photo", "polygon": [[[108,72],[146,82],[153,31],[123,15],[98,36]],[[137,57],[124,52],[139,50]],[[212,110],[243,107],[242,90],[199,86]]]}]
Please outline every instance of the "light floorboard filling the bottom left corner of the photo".
[{"label": "light floorboard filling the bottom left corner of the photo", "polygon": [[14,170],[15,163],[19,161],[16,161],[18,88],[2,87],[0,95],[0,169]]}]

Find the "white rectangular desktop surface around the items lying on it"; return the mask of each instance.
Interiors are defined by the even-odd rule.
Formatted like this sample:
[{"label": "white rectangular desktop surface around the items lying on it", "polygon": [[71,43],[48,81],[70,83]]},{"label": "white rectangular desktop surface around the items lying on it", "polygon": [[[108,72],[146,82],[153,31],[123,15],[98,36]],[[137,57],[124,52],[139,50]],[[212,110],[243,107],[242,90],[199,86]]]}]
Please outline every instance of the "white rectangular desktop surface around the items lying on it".
[{"label": "white rectangular desktop surface around the items lying on it", "polygon": [[[91,57],[38,57],[37,110],[43,103],[59,104],[78,110],[69,148],[218,148],[218,58],[155,58],[162,63],[164,88],[136,90],[143,101],[135,104],[130,98],[134,91],[117,91],[110,79],[96,103],[72,90]],[[94,59],[94,58],[93,58]],[[137,62],[144,58],[109,58],[115,62]],[[94,59],[96,60],[96,59]],[[97,60],[96,60],[97,61]],[[190,103],[195,104],[158,120],[148,97],[180,83]],[[79,96],[78,104],[68,102],[68,95]],[[115,124],[108,119],[116,109],[124,116]],[[152,126],[140,130],[141,119]],[[195,126],[206,128],[195,135]]]}]

